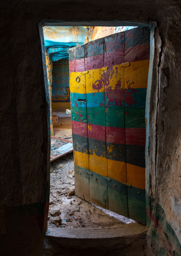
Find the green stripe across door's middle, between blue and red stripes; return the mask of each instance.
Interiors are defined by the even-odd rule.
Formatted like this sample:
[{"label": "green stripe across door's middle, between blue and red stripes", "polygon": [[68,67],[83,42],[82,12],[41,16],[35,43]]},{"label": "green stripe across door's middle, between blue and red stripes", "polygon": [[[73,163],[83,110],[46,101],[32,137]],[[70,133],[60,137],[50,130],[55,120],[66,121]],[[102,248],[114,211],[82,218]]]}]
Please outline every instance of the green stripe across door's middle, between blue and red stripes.
[{"label": "green stripe across door's middle, between blue and red stripes", "polygon": [[[125,114],[124,114],[125,112]],[[145,128],[145,108],[113,106],[113,107],[72,107],[72,120],[98,126],[124,128]]]}]

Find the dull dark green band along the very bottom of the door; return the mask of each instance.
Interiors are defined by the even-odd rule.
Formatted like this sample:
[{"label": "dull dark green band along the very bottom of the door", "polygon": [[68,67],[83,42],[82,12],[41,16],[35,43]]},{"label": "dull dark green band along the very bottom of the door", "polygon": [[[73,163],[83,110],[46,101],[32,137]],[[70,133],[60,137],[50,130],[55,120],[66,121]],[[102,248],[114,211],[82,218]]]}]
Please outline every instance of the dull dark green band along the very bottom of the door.
[{"label": "dull dark green band along the very bottom of the door", "polygon": [[83,183],[89,179],[90,202],[146,225],[145,190],[129,187],[109,177],[107,180],[107,177],[81,167],[75,166],[75,170],[75,178],[83,175]]}]

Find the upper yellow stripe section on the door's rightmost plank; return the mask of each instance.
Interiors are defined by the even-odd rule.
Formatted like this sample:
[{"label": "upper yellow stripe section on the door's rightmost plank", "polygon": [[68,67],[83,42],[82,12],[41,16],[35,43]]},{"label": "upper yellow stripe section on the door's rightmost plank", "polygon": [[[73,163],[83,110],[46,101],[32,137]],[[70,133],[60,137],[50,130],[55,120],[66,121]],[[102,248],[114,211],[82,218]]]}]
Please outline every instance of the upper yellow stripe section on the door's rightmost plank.
[{"label": "upper yellow stripe section on the door's rightmost plank", "polygon": [[147,88],[149,60],[131,62],[124,68],[124,88]]}]

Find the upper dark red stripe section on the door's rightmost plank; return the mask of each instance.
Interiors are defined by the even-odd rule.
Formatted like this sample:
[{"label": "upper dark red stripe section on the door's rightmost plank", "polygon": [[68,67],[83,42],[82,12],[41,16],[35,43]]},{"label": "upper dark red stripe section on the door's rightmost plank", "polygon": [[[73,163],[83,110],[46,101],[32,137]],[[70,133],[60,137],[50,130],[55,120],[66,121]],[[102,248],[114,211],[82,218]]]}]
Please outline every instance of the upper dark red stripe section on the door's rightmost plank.
[{"label": "upper dark red stripe section on the door's rightmost plank", "polygon": [[124,62],[149,60],[149,56],[149,42],[130,48],[125,47]]}]

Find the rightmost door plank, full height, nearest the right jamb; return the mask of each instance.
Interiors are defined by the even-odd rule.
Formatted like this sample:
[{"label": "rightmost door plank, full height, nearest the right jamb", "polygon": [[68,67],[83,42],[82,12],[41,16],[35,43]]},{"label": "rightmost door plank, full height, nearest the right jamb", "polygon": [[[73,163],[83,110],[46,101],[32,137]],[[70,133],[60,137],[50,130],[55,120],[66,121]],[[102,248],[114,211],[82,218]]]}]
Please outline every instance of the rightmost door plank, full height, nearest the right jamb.
[{"label": "rightmost door plank, full height, nearest the right jamb", "polygon": [[126,182],[128,214],[146,225],[145,205],[145,104],[149,69],[149,29],[125,32],[124,68]]}]

